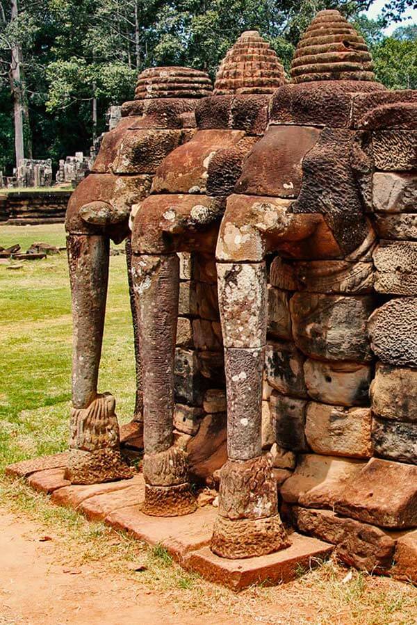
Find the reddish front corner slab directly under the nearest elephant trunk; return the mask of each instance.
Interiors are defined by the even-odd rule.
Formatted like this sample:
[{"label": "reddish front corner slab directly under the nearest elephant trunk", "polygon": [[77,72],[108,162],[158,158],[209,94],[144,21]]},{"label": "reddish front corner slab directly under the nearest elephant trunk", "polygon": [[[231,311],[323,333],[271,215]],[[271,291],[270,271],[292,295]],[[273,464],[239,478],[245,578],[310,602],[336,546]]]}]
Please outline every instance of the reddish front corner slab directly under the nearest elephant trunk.
[{"label": "reddish front corner slab directly under the nearest elephant trunk", "polygon": [[242,590],[252,584],[272,586],[292,581],[300,571],[320,565],[333,549],[328,543],[297,533],[291,534],[291,541],[288,549],[240,560],[220,558],[206,546],[190,553],[184,566],[208,581]]}]

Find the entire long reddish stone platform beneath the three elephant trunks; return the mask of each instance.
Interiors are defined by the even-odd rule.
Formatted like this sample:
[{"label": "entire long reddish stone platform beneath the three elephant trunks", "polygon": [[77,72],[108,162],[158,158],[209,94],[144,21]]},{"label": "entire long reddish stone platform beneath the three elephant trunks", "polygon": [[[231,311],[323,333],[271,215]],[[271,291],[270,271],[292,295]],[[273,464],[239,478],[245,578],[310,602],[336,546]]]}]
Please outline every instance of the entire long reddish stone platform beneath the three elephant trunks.
[{"label": "entire long reddish stone platform beneath the three elephant trunks", "polygon": [[36,491],[49,494],[53,503],[74,508],[91,521],[103,521],[150,545],[161,544],[185,569],[232,590],[291,581],[334,549],[322,540],[292,533],[292,545],[283,551],[242,560],[219,558],[209,548],[217,514],[212,505],[184,517],[149,517],[141,512],[145,498],[142,473],[131,480],[73,486],[64,479],[66,461],[66,453],[26,460],[10,464],[6,474],[24,478]]}]

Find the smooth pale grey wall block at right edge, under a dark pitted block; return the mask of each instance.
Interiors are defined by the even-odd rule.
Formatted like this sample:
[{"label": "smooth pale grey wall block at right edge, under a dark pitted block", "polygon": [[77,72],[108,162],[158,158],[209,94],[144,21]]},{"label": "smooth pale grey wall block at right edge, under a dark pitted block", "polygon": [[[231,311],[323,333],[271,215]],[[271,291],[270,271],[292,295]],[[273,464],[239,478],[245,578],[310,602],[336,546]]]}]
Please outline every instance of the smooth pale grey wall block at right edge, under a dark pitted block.
[{"label": "smooth pale grey wall block at right edge, under a dark pitted block", "polygon": [[384,213],[416,213],[416,174],[373,174],[373,207]]}]

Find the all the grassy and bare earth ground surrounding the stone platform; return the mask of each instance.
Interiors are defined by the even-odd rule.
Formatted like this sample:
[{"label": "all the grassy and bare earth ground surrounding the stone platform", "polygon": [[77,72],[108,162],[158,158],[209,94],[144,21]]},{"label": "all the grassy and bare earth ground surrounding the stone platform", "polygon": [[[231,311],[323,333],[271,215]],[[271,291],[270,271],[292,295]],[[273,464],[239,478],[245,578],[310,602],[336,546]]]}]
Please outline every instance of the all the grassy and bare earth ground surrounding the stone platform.
[{"label": "all the grassy and bare earth ground surrounding the stone platform", "polygon": [[[64,245],[63,225],[0,227],[0,245]],[[99,391],[122,423],[134,403],[126,260],[111,257]],[[71,311],[65,252],[0,263],[0,625],[417,625],[417,589],[330,560],[293,583],[234,594],[24,482],[10,462],[67,447]],[[46,540],[45,537],[50,539]]]}]

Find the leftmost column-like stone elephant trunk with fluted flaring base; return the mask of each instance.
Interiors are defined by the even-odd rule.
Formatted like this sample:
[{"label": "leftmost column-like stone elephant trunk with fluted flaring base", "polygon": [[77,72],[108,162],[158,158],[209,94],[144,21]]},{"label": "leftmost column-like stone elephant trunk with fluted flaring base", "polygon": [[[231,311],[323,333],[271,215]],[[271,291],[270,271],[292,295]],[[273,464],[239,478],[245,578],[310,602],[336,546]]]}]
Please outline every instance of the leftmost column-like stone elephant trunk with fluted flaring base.
[{"label": "leftmost column-like stone elephant trunk with fluted flaring base", "polygon": [[109,242],[105,236],[67,238],[74,320],[70,459],[65,478],[73,484],[132,476],[120,455],[115,399],[97,394],[108,283]]}]

